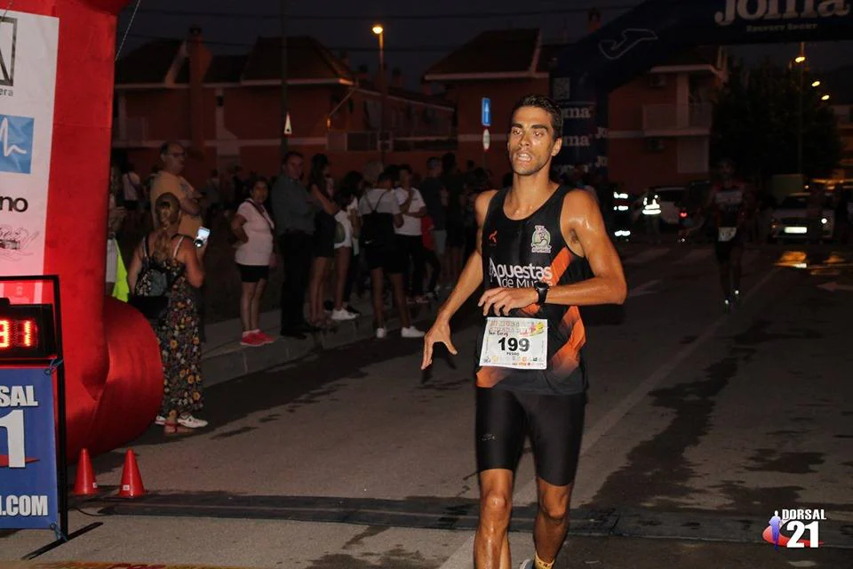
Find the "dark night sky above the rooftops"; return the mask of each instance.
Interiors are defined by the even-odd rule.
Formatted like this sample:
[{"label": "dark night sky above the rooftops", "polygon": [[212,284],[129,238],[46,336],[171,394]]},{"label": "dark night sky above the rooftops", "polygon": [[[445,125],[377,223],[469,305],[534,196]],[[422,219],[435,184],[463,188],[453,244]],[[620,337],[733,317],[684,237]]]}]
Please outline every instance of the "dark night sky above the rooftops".
[{"label": "dark night sky above the rooftops", "polygon": [[[695,0],[684,0],[695,1]],[[127,30],[136,0],[119,20],[119,39]],[[339,52],[349,53],[350,64],[378,67],[374,21],[386,28],[387,68],[403,69],[407,86],[417,88],[419,77],[435,61],[487,29],[542,28],[544,39],[577,39],[586,30],[586,9],[597,5],[606,23],[640,4],[637,0],[287,0],[288,34],[315,36]],[[723,5],[721,1],[721,6]],[[153,37],[186,37],[188,28],[203,28],[213,52],[243,53],[257,36],[278,36],[279,0],[142,0],[124,46],[124,52]],[[165,14],[167,12],[191,12]],[[227,14],[217,17],[212,12]],[[414,18],[412,18],[412,16]],[[408,19],[406,17],[409,17]],[[783,62],[796,55],[797,44],[753,45],[729,48],[749,62],[768,56]],[[812,70],[818,75],[853,64],[853,42],[808,44]]]}]

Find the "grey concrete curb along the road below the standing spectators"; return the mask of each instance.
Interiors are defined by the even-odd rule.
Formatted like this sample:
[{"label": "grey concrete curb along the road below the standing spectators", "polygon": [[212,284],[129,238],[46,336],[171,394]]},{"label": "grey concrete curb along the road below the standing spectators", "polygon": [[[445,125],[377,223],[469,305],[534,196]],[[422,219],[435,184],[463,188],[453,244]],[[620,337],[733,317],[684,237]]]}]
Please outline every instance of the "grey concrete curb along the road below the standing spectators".
[{"label": "grey concrete curb along the road below the standing spectators", "polygon": [[[438,303],[410,307],[412,323],[433,318],[438,307]],[[389,318],[386,327],[389,333],[399,330],[401,327],[399,318]],[[305,340],[278,337],[277,328],[267,329],[264,332],[275,333],[275,342],[254,348],[246,348],[234,342],[223,349],[217,349],[219,353],[203,356],[204,387],[209,388],[250,373],[262,372],[276,365],[287,364],[311,352],[340,348],[374,336],[371,315],[341,322],[328,330],[311,334]]]}]

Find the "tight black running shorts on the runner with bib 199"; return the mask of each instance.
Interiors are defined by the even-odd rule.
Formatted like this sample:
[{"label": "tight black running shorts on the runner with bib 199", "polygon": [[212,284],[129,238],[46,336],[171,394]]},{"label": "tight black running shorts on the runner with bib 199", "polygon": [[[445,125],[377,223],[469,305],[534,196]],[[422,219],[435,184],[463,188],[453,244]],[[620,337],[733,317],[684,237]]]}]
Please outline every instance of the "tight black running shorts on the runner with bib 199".
[{"label": "tight black running shorts on the runner with bib 199", "polygon": [[477,470],[515,470],[530,435],[536,474],[548,484],[575,480],[586,393],[540,395],[477,388]]}]

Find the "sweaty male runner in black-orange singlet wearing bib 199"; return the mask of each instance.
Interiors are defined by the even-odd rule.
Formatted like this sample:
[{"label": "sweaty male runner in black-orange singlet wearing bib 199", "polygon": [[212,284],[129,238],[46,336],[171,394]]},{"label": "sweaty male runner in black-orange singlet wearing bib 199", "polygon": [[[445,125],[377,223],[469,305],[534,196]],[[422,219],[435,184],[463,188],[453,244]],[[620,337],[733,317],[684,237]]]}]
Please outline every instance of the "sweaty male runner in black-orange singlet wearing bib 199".
[{"label": "sweaty male runner in black-orange singlet wearing bib 199", "polygon": [[586,406],[584,325],[578,306],[620,304],[626,284],[594,196],[549,179],[560,151],[560,108],[528,95],[516,103],[506,144],[512,186],[476,198],[477,246],[426,334],[450,341],[450,317],[482,283],[484,333],[477,341],[476,456],[480,524],[477,569],[509,569],[507,528],[514,470],[524,437],[536,462],[539,509],[535,560],[547,569],[569,529],[569,501]]}]

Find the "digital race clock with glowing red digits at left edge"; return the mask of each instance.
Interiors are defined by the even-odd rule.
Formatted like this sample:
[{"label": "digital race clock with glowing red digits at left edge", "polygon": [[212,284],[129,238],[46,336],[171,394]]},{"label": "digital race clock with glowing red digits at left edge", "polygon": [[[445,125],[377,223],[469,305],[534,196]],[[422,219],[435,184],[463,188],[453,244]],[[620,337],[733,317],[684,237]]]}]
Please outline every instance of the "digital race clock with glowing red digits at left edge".
[{"label": "digital race clock with glowing red digits at left edge", "polygon": [[49,360],[55,355],[52,305],[0,299],[0,361]]}]

